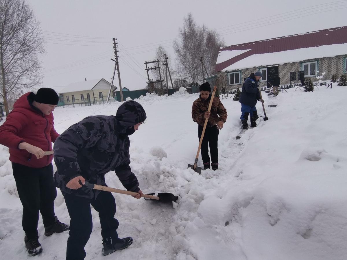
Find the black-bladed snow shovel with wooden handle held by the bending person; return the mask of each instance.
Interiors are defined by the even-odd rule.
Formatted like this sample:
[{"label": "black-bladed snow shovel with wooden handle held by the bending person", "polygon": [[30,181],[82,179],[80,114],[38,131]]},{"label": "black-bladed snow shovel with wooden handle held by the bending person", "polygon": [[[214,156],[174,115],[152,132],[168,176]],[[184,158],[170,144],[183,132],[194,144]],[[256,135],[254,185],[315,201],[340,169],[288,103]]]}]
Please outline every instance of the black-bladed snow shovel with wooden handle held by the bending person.
[{"label": "black-bladed snow shovel with wooden handle held by the bending person", "polygon": [[[83,185],[81,181],[79,181],[79,184]],[[127,194],[131,196],[136,196],[137,194],[139,194],[133,191],[120,190],[120,189],[110,188],[110,187],[102,186],[98,184],[92,184],[88,181],[84,181],[84,186],[87,186],[88,188],[94,189],[94,190],[110,191],[115,193]],[[178,196],[174,196],[174,194],[172,193],[158,193],[158,196],[153,196],[153,195],[154,193],[141,194],[141,197],[145,198],[145,200],[157,200],[162,202],[171,202],[171,201],[176,201],[178,199]]]}]

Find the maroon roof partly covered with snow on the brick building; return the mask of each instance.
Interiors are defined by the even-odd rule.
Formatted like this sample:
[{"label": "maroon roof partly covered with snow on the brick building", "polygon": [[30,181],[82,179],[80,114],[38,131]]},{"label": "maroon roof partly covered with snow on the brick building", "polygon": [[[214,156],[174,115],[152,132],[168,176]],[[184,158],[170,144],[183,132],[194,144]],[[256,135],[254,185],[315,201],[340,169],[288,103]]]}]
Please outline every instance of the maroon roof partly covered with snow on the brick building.
[{"label": "maroon roof partly covered with snow on the brick building", "polygon": [[222,47],[215,71],[270,66],[344,54],[347,54],[347,27],[337,27]]}]

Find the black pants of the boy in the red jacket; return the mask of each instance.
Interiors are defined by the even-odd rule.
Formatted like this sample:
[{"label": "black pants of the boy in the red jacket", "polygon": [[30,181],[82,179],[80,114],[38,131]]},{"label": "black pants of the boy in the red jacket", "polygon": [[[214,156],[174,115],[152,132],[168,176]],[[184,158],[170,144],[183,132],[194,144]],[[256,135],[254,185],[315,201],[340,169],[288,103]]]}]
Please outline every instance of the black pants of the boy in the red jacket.
[{"label": "black pants of the boy in the red jacket", "polygon": [[19,199],[23,205],[23,230],[28,238],[37,237],[39,211],[44,226],[54,223],[54,199],[57,197],[57,189],[53,183],[53,166],[50,164],[43,168],[31,168],[12,163],[12,169]]}]

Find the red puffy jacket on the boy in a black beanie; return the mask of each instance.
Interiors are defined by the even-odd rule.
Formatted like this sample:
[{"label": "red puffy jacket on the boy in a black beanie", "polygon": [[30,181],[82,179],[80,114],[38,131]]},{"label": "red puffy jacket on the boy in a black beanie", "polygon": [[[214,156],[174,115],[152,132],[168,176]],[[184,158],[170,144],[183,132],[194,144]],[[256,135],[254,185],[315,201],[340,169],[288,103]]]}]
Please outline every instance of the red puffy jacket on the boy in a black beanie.
[{"label": "red puffy jacket on the boy in a black beanie", "polygon": [[43,151],[51,151],[52,142],[59,136],[54,130],[53,114],[44,115],[32,105],[34,95],[28,92],[16,101],[14,109],[0,126],[0,144],[10,148],[11,162],[42,168],[52,162],[53,155],[37,159],[35,155],[18,148],[21,142],[27,142]]}]

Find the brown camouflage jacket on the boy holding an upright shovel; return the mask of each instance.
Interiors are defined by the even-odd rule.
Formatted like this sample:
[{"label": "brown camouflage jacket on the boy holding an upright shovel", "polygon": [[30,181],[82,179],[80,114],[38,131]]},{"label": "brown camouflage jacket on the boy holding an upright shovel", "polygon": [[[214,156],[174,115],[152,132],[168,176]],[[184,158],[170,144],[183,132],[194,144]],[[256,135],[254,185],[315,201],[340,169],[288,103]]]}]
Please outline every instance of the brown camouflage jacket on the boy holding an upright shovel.
[{"label": "brown camouflage jacket on the boy holding an upright shovel", "polygon": [[[192,118],[193,121],[198,123],[201,126],[204,126],[205,118],[204,114],[209,109],[209,104],[211,100],[211,94],[207,99],[202,99],[199,97],[193,103],[192,108]],[[207,123],[207,127],[213,127],[218,123],[218,121],[222,121],[225,123],[227,121],[227,110],[223,106],[222,102],[218,97],[213,98],[212,107],[211,107],[211,115],[209,117],[209,121]]]}]

